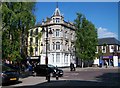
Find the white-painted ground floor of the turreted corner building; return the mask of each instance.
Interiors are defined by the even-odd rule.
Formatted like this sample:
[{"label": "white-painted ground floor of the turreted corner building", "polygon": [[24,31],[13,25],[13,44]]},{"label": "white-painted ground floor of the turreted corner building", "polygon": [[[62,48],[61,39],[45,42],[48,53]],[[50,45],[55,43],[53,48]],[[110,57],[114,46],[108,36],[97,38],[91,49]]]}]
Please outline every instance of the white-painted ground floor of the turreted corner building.
[{"label": "white-painted ground floor of the turreted corner building", "polygon": [[[48,64],[52,64],[57,67],[69,67],[71,62],[75,63],[75,56],[71,56],[69,53],[49,53]],[[45,54],[41,54],[40,64],[45,64]]]}]

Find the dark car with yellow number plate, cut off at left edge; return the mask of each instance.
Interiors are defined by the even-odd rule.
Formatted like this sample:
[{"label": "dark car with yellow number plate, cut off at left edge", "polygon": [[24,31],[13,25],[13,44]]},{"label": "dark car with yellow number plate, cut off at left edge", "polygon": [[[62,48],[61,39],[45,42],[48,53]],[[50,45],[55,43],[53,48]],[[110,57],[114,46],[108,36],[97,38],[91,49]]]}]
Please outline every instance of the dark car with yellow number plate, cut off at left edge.
[{"label": "dark car with yellow number plate, cut off at left edge", "polygon": [[1,84],[17,82],[19,80],[19,73],[15,69],[5,65],[0,65],[0,68],[2,68],[2,72],[0,72]]}]

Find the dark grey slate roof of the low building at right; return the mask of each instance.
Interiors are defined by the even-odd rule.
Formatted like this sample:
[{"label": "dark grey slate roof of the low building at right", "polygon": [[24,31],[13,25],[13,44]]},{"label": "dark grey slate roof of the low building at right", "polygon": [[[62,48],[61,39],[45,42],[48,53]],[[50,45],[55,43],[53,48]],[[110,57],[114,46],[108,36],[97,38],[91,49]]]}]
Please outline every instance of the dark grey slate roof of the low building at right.
[{"label": "dark grey slate roof of the low building at right", "polygon": [[98,45],[103,45],[103,44],[107,44],[107,45],[120,45],[120,41],[118,41],[116,38],[114,37],[109,37],[109,38],[100,38],[98,39]]}]

